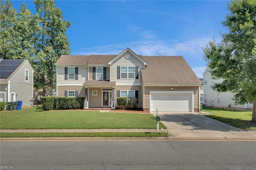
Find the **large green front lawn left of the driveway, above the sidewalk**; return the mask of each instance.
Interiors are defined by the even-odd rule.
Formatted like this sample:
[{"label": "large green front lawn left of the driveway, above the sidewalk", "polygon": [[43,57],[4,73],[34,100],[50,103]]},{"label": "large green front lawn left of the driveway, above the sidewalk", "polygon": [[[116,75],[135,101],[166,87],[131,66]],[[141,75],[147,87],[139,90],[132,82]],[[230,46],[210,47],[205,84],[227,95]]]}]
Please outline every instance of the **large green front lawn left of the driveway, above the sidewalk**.
[{"label": "large green front lawn left of the driveway, above the sidewalk", "polygon": [[[162,123],[159,127],[166,129]],[[30,107],[1,111],[0,129],[156,129],[156,119],[151,114]]]}]

